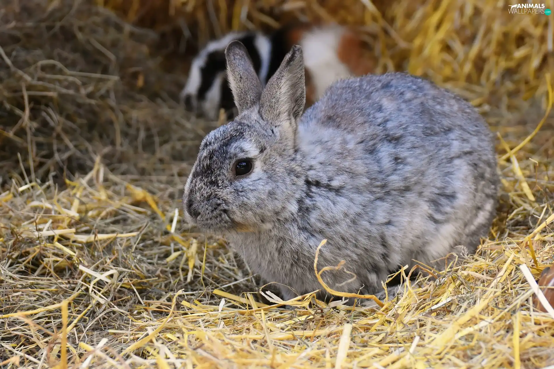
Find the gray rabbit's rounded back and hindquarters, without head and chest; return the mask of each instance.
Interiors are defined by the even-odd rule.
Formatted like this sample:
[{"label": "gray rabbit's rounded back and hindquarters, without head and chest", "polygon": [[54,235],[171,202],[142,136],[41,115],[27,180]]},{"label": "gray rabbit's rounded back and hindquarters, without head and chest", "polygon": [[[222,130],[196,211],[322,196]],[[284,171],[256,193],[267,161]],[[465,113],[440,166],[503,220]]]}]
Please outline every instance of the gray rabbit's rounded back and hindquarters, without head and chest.
[{"label": "gray rabbit's rounded back and hindquarters, without head and chest", "polygon": [[302,116],[298,142],[309,227],[340,235],[330,243],[351,247],[360,272],[430,263],[457,245],[474,252],[488,233],[498,182],[490,130],[429,81],[339,81]]}]

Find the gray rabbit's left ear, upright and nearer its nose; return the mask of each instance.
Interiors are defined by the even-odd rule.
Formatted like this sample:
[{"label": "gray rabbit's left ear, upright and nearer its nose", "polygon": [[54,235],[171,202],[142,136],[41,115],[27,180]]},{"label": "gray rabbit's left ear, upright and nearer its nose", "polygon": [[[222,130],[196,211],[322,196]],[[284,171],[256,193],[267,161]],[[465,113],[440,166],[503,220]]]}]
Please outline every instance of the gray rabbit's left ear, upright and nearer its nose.
[{"label": "gray rabbit's left ear, upright and nearer its nose", "polygon": [[239,114],[260,101],[261,83],[247,49],[240,41],[231,41],[225,48],[227,79],[233,91]]}]

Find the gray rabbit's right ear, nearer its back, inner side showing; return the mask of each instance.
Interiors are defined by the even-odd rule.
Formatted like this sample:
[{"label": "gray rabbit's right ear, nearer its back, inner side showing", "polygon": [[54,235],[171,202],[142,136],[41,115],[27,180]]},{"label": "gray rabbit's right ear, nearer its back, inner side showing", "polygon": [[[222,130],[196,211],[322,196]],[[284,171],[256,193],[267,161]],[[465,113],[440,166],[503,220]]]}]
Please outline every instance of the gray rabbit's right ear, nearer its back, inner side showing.
[{"label": "gray rabbit's right ear, nearer its back, inner side showing", "polygon": [[305,103],[304,55],[302,48],[294,45],[261,93],[260,115],[294,137]]}]

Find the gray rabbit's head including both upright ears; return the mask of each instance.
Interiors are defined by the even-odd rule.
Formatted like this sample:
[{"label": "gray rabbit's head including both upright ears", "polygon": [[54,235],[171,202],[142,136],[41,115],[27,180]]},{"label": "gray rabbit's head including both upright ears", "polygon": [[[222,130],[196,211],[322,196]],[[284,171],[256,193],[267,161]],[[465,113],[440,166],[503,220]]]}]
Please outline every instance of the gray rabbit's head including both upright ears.
[{"label": "gray rabbit's head including both upright ears", "polygon": [[229,43],[225,59],[239,115],[203,139],[184,214],[205,230],[262,230],[297,211],[304,181],[295,139],[306,101],[302,49],[293,46],[265,88],[240,41]]}]

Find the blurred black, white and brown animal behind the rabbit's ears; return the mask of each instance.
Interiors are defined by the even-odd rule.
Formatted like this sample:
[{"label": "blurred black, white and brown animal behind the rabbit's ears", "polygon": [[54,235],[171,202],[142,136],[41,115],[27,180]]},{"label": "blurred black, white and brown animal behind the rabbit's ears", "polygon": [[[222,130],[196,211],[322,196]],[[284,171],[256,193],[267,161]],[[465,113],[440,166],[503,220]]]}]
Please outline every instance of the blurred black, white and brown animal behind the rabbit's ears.
[{"label": "blurred black, white and brown animal behind the rabbit's ears", "polygon": [[225,66],[225,48],[239,40],[248,50],[260,82],[265,86],[293,45],[304,50],[306,108],[319,100],[332,82],[373,72],[375,57],[355,31],[341,25],[288,24],[273,34],[232,32],[210,41],[193,59],[179,96],[187,110],[217,120],[237,115]]}]

